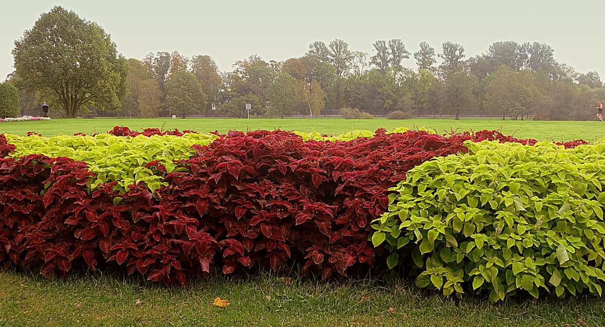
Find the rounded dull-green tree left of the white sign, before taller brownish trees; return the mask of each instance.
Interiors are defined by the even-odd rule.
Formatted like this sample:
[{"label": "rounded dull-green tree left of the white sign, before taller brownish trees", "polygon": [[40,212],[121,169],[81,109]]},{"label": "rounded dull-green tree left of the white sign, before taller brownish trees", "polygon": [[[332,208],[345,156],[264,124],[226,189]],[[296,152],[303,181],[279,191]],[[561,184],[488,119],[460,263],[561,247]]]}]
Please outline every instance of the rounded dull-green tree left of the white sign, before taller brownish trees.
[{"label": "rounded dull-green tree left of the white sign, before taller brownish trees", "polygon": [[166,82],[166,105],[171,112],[185,118],[186,114],[200,113],[208,97],[194,74],[181,70]]}]

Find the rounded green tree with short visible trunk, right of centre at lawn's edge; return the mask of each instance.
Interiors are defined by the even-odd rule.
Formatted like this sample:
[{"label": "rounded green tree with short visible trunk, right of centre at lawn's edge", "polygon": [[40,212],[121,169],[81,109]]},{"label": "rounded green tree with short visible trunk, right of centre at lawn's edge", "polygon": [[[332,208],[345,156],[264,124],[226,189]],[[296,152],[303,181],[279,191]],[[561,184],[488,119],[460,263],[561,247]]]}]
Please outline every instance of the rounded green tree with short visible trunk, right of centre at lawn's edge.
[{"label": "rounded green tree with short visible trunk, right of centre at lawn's edge", "polygon": [[477,78],[465,71],[451,71],[439,91],[440,108],[443,113],[455,114],[460,120],[460,114],[477,107],[473,90]]}]

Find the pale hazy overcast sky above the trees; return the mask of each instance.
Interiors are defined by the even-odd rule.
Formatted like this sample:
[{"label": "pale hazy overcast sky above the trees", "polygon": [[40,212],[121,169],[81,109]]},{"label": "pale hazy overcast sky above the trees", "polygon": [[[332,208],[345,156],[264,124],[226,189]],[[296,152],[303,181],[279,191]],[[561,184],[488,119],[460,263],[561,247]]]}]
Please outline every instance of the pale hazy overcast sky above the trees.
[{"label": "pale hazy overcast sky above the trees", "polygon": [[[265,61],[303,56],[314,41],[348,42],[373,55],[377,40],[401,39],[410,53],[427,41],[463,45],[466,58],[496,41],[545,42],[555,59],[605,77],[605,1],[7,1],[0,12],[0,81],[15,40],[54,5],[97,22],[126,58],[177,50],[208,54],[221,71],[251,54]],[[465,59],[466,59],[465,58]],[[416,61],[403,64],[416,68]]]}]

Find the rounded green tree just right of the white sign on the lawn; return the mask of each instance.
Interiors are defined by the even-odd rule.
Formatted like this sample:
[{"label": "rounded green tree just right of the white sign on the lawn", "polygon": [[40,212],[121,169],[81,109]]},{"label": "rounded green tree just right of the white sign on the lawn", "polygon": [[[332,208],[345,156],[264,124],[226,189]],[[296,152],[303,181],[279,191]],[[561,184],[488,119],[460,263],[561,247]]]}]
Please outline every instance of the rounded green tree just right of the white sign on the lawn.
[{"label": "rounded green tree just right of the white sign on the lawn", "polygon": [[284,117],[284,114],[292,114],[292,108],[295,105],[296,79],[286,73],[281,73],[267,87],[267,96],[269,105],[267,106],[267,116]]}]

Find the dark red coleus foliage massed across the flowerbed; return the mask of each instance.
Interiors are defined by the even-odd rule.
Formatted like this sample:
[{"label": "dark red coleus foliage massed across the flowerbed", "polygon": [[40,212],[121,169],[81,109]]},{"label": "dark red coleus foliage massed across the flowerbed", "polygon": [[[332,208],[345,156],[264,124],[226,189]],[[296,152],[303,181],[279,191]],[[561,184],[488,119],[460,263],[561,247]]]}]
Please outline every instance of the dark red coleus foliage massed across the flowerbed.
[{"label": "dark red coleus foliage massed across the flowerbed", "polygon": [[[113,133],[180,132],[116,127]],[[349,142],[229,131],[207,147],[194,146],[197,154],[180,162],[188,171],[168,174],[169,186],[152,197],[143,183],[125,194],[111,183],[88,191],[94,174],[86,163],[42,155],[14,160],[7,155],[15,147],[0,134],[0,262],[46,276],[114,265],[167,285],[213,265],[225,274],[298,265],[324,278],[364,271],[384,262],[382,248],[368,242],[368,223],[387,210],[388,188],[425,160],[484,139],[535,143],[493,131],[378,130]],[[564,145],[578,144],[586,142]]]}]

